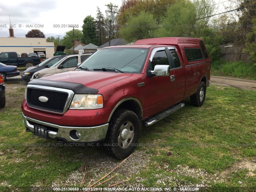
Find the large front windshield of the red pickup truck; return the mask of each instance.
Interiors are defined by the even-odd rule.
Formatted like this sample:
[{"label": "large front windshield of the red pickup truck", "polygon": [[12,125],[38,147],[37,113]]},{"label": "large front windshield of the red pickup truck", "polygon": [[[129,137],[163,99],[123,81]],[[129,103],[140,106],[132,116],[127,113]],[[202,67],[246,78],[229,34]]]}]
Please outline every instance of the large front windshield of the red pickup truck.
[{"label": "large front windshield of the red pickup truck", "polygon": [[[105,48],[100,49],[86,59],[79,68],[85,67],[90,71],[109,71],[112,68],[124,73],[141,73],[148,49],[142,48]],[[112,70],[115,72],[115,70]]]}]

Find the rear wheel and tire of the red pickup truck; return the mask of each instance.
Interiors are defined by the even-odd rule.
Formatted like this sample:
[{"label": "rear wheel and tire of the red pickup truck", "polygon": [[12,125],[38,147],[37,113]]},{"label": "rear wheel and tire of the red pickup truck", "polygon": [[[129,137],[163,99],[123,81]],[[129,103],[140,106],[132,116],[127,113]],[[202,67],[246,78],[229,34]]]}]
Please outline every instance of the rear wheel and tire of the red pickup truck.
[{"label": "rear wheel and tire of the red pickup truck", "polygon": [[192,96],[190,96],[190,102],[197,107],[200,107],[204,104],[206,96],[206,84],[201,81],[196,93]]}]

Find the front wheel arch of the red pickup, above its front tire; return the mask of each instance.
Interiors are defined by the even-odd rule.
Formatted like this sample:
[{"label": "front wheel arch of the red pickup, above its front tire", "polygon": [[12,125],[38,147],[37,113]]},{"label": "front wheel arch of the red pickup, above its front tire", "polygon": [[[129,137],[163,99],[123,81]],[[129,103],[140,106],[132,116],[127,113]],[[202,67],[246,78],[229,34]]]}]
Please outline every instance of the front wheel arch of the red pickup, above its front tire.
[{"label": "front wheel arch of the red pickup, above its front tire", "polygon": [[133,97],[128,97],[122,99],[116,106],[113,108],[110,116],[108,117],[108,122],[110,122],[114,112],[118,109],[127,109],[133,111],[139,118],[139,121],[142,121],[142,105],[140,101]]}]

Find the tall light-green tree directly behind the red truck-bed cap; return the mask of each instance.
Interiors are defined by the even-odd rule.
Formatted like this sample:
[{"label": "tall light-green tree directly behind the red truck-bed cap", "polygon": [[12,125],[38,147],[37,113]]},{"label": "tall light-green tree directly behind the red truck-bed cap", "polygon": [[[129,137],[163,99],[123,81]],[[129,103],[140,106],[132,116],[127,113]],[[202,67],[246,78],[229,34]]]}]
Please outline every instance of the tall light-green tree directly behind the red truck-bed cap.
[{"label": "tall light-green tree directly behind the red truck-bed cap", "polygon": [[158,37],[190,37],[195,32],[196,9],[188,0],[176,2],[166,11],[162,27],[156,32]]}]

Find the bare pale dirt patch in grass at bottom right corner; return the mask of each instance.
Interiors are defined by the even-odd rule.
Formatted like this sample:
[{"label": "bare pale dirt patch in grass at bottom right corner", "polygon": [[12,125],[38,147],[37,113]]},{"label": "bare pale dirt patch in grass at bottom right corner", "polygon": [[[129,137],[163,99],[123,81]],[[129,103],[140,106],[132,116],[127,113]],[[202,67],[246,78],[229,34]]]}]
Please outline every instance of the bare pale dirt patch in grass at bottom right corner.
[{"label": "bare pale dirt patch in grass at bottom right corner", "polygon": [[238,172],[242,169],[248,169],[249,172],[247,173],[247,176],[255,176],[256,174],[254,171],[256,170],[256,160],[248,160],[248,159],[242,159],[239,162],[234,163],[230,168],[223,171],[220,176],[221,177],[227,177],[231,175],[232,172]]}]

